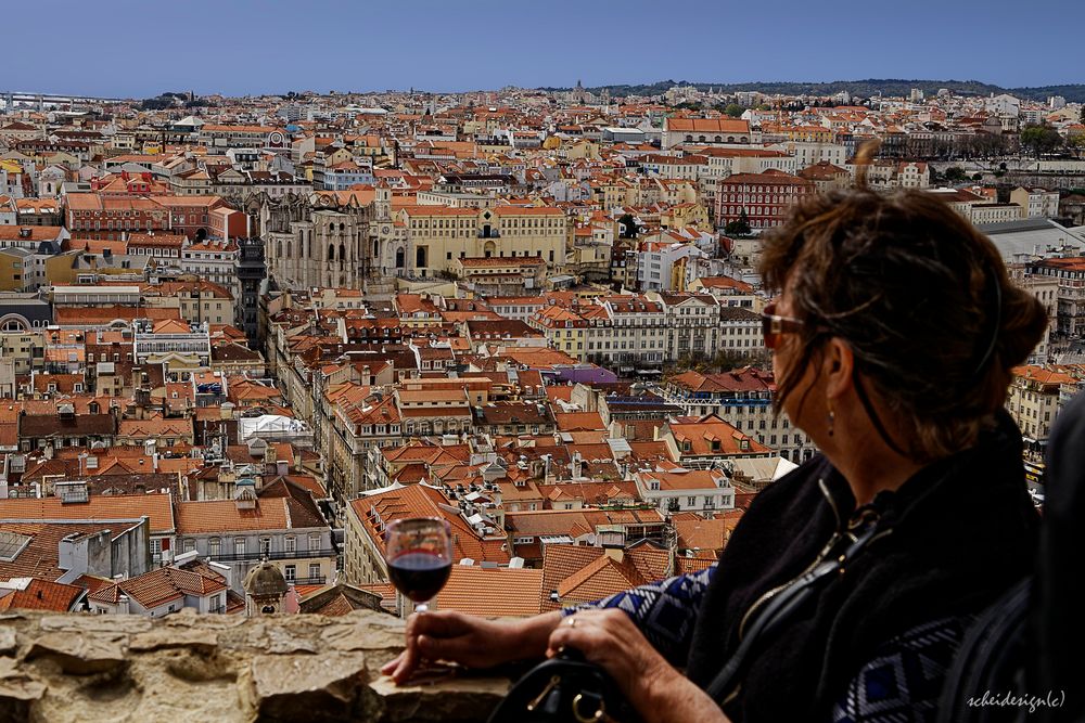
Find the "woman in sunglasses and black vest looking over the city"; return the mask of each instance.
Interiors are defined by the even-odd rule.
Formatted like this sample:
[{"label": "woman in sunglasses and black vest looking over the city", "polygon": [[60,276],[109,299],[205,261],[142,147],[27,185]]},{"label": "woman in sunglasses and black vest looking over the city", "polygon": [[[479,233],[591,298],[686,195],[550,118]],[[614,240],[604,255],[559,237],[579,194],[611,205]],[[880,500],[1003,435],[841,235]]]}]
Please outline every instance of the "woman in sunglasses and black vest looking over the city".
[{"label": "woman in sunglasses and black vest looking over the city", "polygon": [[[777,409],[821,455],[758,494],[701,576],[525,621],[413,617],[385,672],[403,682],[420,657],[486,666],[572,646],[646,721],[930,714],[969,616],[1033,558],[1038,517],[1001,408],[1046,313],[987,238],[922,192],[814,197],[761,266],[779,293],[765,314]],[[768,601],[860,535],[737,683],[704,693]]]}]

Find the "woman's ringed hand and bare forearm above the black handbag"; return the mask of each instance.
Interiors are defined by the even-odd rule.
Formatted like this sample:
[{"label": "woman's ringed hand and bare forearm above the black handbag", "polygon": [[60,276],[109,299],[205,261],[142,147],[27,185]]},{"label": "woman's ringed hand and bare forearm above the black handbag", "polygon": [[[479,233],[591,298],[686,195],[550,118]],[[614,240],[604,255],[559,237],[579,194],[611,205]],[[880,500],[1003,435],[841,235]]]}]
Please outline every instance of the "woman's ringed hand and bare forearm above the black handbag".
[{"label": "woman's ringed hand and bare forearm above the black handbag", "polygon": [[582,610],[565,618],[550,634],[547,657],[565,647],[602,666],[646,723],[727,722],[715,701],[656,653],[622,610]]}]

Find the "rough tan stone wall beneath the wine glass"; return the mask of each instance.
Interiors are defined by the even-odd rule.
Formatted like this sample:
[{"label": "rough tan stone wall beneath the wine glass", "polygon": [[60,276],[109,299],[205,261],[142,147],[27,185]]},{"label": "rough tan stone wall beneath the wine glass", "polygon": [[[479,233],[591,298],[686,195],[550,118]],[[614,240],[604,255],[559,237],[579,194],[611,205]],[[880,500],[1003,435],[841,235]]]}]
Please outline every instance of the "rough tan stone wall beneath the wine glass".
[{"label": "rough tan stone wall beneath the wine glass", "polygon": [[484,721],[505,679],[397,688],[403,621],[321,616],[0,616],[0,723]]}]

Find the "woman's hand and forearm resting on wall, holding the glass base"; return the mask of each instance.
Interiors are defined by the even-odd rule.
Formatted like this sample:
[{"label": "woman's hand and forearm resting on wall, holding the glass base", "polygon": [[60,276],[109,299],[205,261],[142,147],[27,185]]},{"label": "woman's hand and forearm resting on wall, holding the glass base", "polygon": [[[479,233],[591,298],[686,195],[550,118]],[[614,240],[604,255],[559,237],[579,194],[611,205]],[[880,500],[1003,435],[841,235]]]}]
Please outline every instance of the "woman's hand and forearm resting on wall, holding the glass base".
[{"label": "woman's hand and forearm resting on wall, holding the glass base", "polygon": [[489,668],[541,656],[547,636],[559,620],[558,612],[516,621],[486,620],[450,610],[416,612],[407,619],[404,651],[381,668],[381,672],[401,685],[422,660]]}]

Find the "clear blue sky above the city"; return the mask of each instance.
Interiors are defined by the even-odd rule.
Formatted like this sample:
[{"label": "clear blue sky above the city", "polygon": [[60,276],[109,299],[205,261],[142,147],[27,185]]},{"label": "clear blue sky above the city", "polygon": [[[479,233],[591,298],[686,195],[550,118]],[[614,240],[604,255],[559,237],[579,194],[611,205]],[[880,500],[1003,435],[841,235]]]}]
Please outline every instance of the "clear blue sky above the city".
[{"label": "clear blue sky above the city", "polygon": [[[688,79],[1085,81],[1080,0],[53,0],[3,11],[0,90],[435,91]],[[48,31],[44,28],[48,26]]]}]

